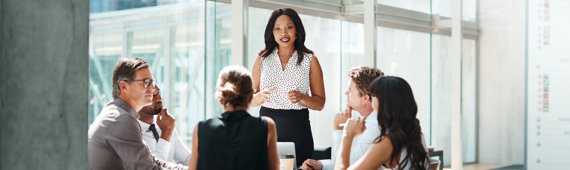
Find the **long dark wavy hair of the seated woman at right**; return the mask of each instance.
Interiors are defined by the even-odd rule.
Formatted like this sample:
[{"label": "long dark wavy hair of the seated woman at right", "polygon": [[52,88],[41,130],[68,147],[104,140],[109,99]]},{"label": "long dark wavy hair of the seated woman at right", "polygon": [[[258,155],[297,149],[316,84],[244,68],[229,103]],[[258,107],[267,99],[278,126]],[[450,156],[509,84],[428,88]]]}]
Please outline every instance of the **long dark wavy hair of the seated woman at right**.
[{"label": "long dark wavy hair of the seated woman at right", "polygon": [[400,77],[381,76],[372,82],[369,90],[378,99],[380,136],[374,142],[385,136],[392,141],[389,163],[397,160],[405,148],[408,155],[400,160],[402,164],[398,163],[400,169],[408,163],[412,169],[427,169],[429,159],[422,144],[420,120],[416,118],[418,106],[408,82]]}]

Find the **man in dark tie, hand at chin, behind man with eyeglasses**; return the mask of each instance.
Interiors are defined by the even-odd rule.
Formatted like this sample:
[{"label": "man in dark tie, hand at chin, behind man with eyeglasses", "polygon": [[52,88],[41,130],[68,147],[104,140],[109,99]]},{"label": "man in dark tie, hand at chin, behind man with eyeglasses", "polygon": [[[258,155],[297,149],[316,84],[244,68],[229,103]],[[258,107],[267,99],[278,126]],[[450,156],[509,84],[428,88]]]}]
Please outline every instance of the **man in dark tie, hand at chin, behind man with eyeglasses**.
[{"label": "man in dark tie, hand at chin, behind man with eyeglasses", "polygon": [[[160,88],[155,85],[152,105],[144,106],[139,111],[139,124],[143,140],[148,144],[152,154],[162,160],[188,165],[190,150],[180,139],[174,128],[174,118],[166,108],[162,108]],[[159,135],[160,134],[160,135]]]}]

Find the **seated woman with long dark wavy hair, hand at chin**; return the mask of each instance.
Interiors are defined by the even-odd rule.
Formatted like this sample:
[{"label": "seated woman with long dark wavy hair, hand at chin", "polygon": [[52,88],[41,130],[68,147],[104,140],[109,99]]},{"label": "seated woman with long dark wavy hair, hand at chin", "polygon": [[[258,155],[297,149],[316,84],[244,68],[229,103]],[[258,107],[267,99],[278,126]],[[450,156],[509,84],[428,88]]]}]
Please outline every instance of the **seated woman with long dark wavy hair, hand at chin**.
[{"label": "seated woman with long dark wavy hair, hand at chin", "polygon": [[380,136],[364,156],[349,167],[352,139],[366,127],[364,119],[348,119],[335,169],[427,169],[426,142],[408,82],[400,77],[378,77],[370,85],[370,93],[372,107],[378,114]]}]

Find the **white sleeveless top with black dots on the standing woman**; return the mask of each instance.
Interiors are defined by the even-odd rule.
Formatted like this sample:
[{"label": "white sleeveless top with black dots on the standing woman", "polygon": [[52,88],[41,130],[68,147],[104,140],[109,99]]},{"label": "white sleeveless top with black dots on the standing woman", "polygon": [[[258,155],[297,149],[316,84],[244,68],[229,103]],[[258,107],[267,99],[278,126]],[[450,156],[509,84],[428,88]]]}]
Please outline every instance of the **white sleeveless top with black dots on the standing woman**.
[{"label": "white sleeveless top with black dots on the standing woman", "polygon": [[295,50],[291,59],[285,66],[285,70],[281,67],[281,60],[277,54],[279,50],[275,48],[271,55],[262,57],[261,59],[261,77],[259,89],[275,88],[277,89],[269,94],[270,101],[263,101],[261,106],[271,109],[305,109],[307,106],[302,102],[291,104],[288,96],[284,93],[291,90],[299,90],[300,93],[309,94],[310,78],[309,69],[311,68],[312,54],[303,55],[300,65],[297,65],[299,55]]}]

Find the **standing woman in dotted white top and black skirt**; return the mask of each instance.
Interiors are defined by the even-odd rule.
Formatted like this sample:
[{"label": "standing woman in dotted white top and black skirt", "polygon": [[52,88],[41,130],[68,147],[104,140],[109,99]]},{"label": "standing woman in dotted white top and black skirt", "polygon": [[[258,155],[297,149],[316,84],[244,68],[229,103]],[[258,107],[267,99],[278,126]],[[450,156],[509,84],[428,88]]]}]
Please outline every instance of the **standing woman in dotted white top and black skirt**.
[{"label": "standing woman in dotted white top and black skirt", "polygon": [[273,11],[265,28],[265,48],[251,71],[257,91],[251,105],[261,105],[259,115],[274,119],[278,142],[295,143],[297,163],[313,154],[308,109],[322,110],[325,102],[323,71],[314,52],[305,47],[305,35],[295,10]]}]

